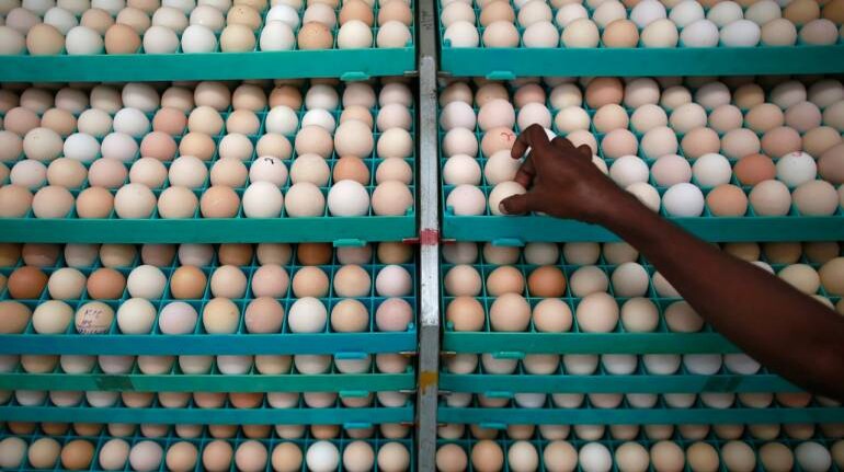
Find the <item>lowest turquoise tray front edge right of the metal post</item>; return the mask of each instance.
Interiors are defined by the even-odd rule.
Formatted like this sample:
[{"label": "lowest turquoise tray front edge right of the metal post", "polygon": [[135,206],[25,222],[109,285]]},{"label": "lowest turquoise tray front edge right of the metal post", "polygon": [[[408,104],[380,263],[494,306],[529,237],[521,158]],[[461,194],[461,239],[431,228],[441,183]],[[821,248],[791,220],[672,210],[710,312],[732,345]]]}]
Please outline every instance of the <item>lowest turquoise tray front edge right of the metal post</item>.
[{"label": "lowest turquoise tray front edge right of the metal post", "polygon": [[[499,399],[511,395],[499,394]],[[772,404],[765,408],[751,407],[740,401],[727,408],[715,408],[703,404],[700,399],[688,408],[673,408],[659,398],[651,408],[636,408],[626,399],[615,408],[601,408],[583,400],[577,408],[555,406],[550,396],[539,407],[526,408],[509,401],[504,407],[483,407],[477,399],[469,406],[452,407],[441,400],[437,407],[437,421],[441,423],[471,423],[505,427],[505,425],[634,425],[634,424],[772,424],[772,423],[841,423],[844,421],[844,407],[821,406],[812,402],[806,407],[789,408]],[[488,426],[490,427],[490,426]]]}]

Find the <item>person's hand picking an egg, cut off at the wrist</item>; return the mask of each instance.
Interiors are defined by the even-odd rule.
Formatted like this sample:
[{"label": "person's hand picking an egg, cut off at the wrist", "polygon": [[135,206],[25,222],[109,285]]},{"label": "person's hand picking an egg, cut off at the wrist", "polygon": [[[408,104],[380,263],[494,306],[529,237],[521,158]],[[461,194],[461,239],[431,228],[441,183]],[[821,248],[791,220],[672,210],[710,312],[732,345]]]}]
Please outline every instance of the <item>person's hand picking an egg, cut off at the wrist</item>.
[{"label": "person's hand picking an egg, cut off at the wrist", "polygon": [[592,149],[568,139],[549,141],[545,129],[531,125],[516,138],[511,156],[520,159],[531,148],[515,181],[527,193],[504,198],[507,215],[540,211],[558,218],[600,223],[616,204],[631,198],[592,163]]}]

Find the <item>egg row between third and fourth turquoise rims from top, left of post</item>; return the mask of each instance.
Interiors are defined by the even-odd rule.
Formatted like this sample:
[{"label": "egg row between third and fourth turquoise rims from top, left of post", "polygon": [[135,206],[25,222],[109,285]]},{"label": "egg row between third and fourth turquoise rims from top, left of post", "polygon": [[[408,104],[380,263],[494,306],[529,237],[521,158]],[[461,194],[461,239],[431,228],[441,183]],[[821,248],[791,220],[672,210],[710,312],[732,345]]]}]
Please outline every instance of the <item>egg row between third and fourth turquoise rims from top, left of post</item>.
[{"label": "egg row between third and fourth turquoise rims from top, left of post", "polygon": [[[329,355],[181,355],[181,356],[87,356],[34,355],[0,356],[0,371],[15,369],[27,373],[107,375],[140,372],[144,375],[316,375],[366,373],[375,367],[380,373],[402,373],[410,359],[400,354],[366,355],[354,359]],[[20,367],[19,367],[20,366]]]}]

